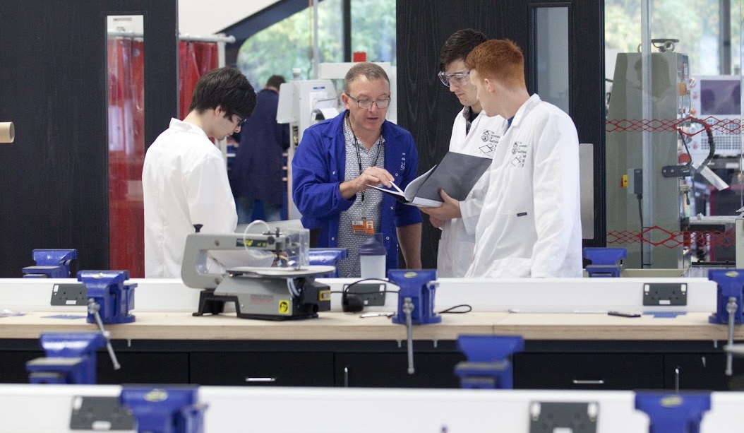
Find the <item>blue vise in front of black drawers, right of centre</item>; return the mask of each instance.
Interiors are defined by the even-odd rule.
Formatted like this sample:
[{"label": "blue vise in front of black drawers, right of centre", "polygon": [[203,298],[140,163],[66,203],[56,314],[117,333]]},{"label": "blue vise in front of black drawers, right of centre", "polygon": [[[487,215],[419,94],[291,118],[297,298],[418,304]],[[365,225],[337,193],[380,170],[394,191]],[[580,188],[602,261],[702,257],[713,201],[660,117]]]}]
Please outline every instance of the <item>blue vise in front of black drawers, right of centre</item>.
[{"label": "blue vise in front of black drawers, right of centre", "polygon": [[455,365],[461,388],[514,388],[509,357],[525,349],[522,336],[458,336],[458,347],[467,358]]}]

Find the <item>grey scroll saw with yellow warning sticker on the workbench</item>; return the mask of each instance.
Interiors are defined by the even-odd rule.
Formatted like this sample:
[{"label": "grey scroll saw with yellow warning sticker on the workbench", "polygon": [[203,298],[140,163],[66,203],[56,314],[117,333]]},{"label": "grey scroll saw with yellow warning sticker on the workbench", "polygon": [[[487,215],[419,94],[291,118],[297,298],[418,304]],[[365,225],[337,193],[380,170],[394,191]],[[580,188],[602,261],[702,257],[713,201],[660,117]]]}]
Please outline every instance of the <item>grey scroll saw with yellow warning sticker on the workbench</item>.
[{"label": "grey scroll saw with yellow warning sticker on the workbench", "polygon": [[[208,272],[209,251],[244,251],[273,257],[272,266],[236,266],[225,274]],[[318,317],[330,310],[330,287],[315,281],[333,266],[310,266],[310,231],[276,228],[263,233],[187,236],[181,277],[186,286],[202,289],[193,315],[219,314],[233,302],[240,318],[290,320]]]}]

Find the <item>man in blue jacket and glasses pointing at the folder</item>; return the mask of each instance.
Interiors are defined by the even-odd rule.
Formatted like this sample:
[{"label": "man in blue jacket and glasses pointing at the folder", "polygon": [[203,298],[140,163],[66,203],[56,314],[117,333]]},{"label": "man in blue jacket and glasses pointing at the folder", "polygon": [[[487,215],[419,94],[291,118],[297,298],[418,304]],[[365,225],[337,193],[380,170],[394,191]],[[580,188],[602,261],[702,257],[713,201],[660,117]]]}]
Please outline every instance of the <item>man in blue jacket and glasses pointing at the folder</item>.
[{"label": "man in blue jacket and glasses pointing at the folder", "polygon": [[348,249],[339,277],[359,277],[359,246],[382,233],[387,269],[398,269],[398,245],[408,269],[421,269],[418,208],[370,185],[405,189],[416,179],[411,133],[385,120],[388,74],[373,63],[353,65],[344,78],[336,118],[307,128],[292,158],[292,198],[305,228],[319,229],[318,247]]}]

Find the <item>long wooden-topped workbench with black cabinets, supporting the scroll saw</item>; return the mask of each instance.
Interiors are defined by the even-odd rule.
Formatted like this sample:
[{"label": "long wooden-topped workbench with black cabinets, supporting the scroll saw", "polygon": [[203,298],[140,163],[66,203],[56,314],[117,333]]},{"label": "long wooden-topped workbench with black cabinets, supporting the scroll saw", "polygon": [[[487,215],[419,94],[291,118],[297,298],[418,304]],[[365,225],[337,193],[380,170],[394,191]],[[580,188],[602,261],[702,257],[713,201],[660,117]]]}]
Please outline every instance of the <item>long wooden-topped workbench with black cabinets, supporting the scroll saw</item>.
[{"label": "long wooden-topped workbench with black cabinets, supporting the scroll saw", "polygon": [[[472,284],[457,290],[446,289],[443,284],[444,289],[437,292],[437,300],[443,304],[437,302],[437,310],[460,300],[472,304],[474,310],[443,315],[440,324],[414,327],[416,372],[409,375],[405,368],[405,327],[391,324],[389,318],[359,318],[359,314],[338,311],[337,305],[318,318],[297,321],[239,319],[230,312],[193,317],[190,306],[196,305],[198,291],[168,280],[157,284],[140,280],[140,284],[133,311],[135,322],[106,326],[122,368],[114,371],[108,355],[101,351],[99,383],[454,388],[459,384],[453,368],[465,359],[458,350],[457,337],[496,334],[525,339],[525,350],[513,357],[516,388],[672,390],[679,382],[682,389],[729,389],[722,352],[728,330],[725,325],[708,323],[713,298],[710,311],[705,311],[708,307],[693,308],[693,304],[699,304],[696,301],[684,314],[672,318],[649,314],[624,318],[588,312],[516,313],[493,311],[501,307],[494,307],[498,301],[489,297],[508,298],[498,289],[478,295],[481,304],[475,304],[476,296],[469,293],[476,290]],[[606,292],[612,291],[612,283],[603,287]],[[35,289],[27,288],[26,296],[32,296]],[[690,290],[690,298],[696,291]],[[710,292],[710,287],[699,291]],[[176,301],[169,301],[167,309],[158,311],[162,298]],[[702,304],[707,305],[708,298],[710,295],[705,295]],[[551,302],[552,306],[559,305],[559,300]],[[609,307],[628,309],[632,304],[618,302],[619,306],[616,303]],[[28,381],[25,362],[42,356],[40,333],[96,330],[86,323],[80,308],[33,308],[32,304],[41,301],[8,298],[5,304],[25,315],[0,318],[1,382]],[[530,311],[530,305],[518,305],[522,311]],[[598,306],[585,299],[581,308],[590,311]],[[744,340],[742,327],[737,327],[735,339]],[[744,362],[734,361],[734,373],[743,373]]]}]

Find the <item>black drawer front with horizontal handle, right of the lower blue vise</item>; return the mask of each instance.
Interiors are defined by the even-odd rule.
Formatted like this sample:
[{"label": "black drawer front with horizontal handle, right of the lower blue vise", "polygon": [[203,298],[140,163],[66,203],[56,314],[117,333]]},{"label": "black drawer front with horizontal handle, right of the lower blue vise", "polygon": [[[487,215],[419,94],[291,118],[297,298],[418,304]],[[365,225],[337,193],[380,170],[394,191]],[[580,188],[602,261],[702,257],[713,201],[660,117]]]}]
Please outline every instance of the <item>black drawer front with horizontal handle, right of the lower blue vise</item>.
[{"label": "black drawer front with horizontal handle, right of the lower blue vise", "polygon": [[661,353],[516,353],[514,388],[663,389]]}]

